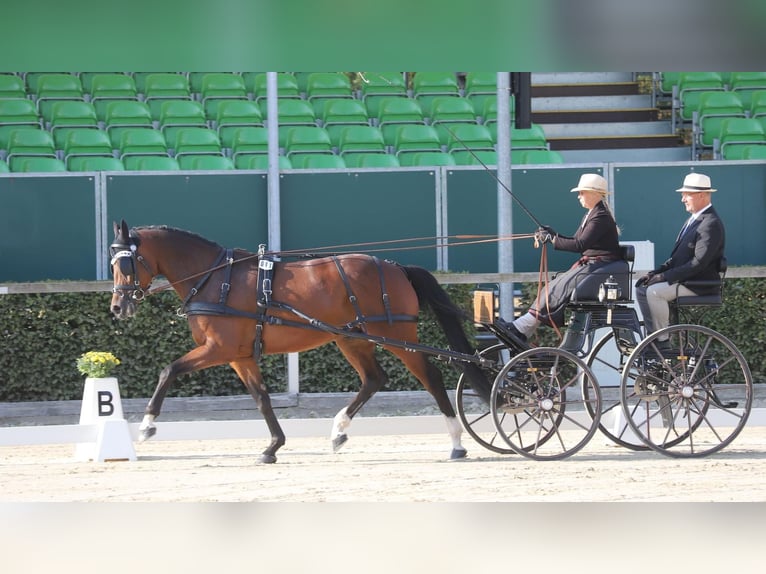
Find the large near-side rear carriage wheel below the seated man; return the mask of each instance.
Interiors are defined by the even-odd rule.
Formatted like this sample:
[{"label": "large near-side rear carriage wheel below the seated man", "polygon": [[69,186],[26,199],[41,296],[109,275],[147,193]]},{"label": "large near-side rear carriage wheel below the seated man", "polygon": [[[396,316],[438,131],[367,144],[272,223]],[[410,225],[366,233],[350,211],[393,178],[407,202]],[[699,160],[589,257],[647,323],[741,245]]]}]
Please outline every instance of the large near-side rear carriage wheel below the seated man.
[{"label": "large near-side rear carriage wheel below the seated man", "polygon": [[[670,337],[672,351],[658,339]],[[699,325],[652,333],[631,353],[620,385],[623,413],[649,448],[702,457],[730,444],[747,422],[753,380],[726,337]]]}]

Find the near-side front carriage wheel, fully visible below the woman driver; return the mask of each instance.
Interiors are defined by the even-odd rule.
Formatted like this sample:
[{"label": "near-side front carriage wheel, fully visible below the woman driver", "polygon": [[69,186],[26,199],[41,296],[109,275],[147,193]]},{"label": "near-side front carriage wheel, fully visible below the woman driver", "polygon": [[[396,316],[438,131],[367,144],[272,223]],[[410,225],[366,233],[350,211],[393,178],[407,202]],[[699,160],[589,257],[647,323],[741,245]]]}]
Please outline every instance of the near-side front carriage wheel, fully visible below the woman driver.
[{"label": "near-side front carriage wheel, fully visible below the woman driver", "polygon": [[[581,382],[588,388],[587,399]],[[559,460],[579,451],[595,434],[601,392],[582,359],[564,349],[536,347],[516,355],[498,373],[490,404],[495,428],[514,452]]]}]

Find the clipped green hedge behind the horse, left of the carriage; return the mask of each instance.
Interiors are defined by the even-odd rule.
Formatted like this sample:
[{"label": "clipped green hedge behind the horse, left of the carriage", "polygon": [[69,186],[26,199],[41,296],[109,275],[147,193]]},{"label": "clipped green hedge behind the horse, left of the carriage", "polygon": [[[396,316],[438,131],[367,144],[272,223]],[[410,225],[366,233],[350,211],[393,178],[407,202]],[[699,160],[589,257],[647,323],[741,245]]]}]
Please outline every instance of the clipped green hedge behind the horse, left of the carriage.
[{"label": "clipped green hedge behind the horse, left of the carriage", "polygon": [[[450,285],[453,300],[470,309],[471,289]],[[172,292],[144,300],[138,313],[118,321],[109,311],[110,293],[46,293],[0,297],[0,401],[77,400],[83,377],[75,361],[86,351],[111,351],[121,361],[114,375],[124,398],[149,397],[160,371],[193,347],[185,319],[176,315],[179,299]],[[421,317],[421,342],[446,348],[430,314]],[[473,327],[466,323],[471,334]],[[389,375],[387,390],[422,390],[420,383],[390,353],[380,352]],[[287,390],[286,356],[267,355],[262,370],[271,392]],[[440,363],[454,387],[456,371]],[[335,345],[300,355],[302,392],[354,391],[359,378]],[[329,376],[329,374],[332,374]],[[184,375],[168,396],[240,395],[247,391],[228,366]]]}]

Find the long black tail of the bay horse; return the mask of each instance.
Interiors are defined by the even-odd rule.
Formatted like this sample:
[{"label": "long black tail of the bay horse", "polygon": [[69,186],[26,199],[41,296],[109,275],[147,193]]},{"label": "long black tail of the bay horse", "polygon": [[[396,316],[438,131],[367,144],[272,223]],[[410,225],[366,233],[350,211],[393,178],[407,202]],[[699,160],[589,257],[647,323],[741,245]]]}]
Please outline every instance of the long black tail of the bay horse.
[{"label": "long black tail of the bay horse", "polygon": [[[436,315],[436,320],[447,336],[452,350],[469,355],[475,353],[476,349],[468,341],[463,329],[462,321],[465,319],[465,313],[452,302],[436,277],[428,270],[415,265],[403,265],[402,269],[415,289],[420,306],[430,307]],[[478,363],[460,361],[458,364],[468,377],[471,387],[489,402],[491,384]]]}]

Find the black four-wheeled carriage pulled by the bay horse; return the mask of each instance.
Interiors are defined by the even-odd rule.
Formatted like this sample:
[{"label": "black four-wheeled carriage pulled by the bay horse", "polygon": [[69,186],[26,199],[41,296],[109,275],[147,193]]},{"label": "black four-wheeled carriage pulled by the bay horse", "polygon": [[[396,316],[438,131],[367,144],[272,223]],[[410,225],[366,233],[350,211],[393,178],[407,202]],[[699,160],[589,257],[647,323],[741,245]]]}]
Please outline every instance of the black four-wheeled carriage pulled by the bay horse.
[{"label": "black four-wheeled carriage pulled by the bay horse", "polygon": [[[633,247],[623,246],[623,255],[632,276]],[[601,300],[570,303],[559,347],[522,349],[493,317],[475,317],[499,342],[480,354],[494,380],[489,403],[465,377],[458,381],[464,428],[494,452],[537,460],[570,456],[597,430],[617,445],[673,457],[721,450],[747,422],[753,392],[742,353],[698,324],[721,305],[725,273],[723,261],[717,293],[678,297],[673,324],[648,336],[631,290],[618,293],[608,283]],[[490,292],[475,296],[489,299],[475,308],[494,310]],[[660,348],[668,337],[670,350]]]}]

